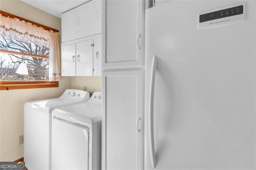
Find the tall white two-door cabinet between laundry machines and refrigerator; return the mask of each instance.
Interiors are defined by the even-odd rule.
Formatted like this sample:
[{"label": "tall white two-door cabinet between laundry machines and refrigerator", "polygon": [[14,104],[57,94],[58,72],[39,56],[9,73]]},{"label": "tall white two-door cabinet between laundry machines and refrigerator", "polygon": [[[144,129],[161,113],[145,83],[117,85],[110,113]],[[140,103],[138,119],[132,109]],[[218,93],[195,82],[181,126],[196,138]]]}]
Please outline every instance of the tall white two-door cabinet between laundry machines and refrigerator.
[{"label": "tall white two-door cabinet between laundry machines and refrigerator", "polygon": [[104,0],[102,169],[143,169],[144,1]]}]

